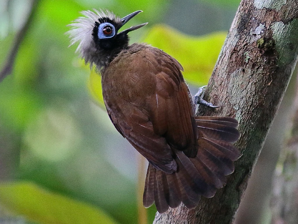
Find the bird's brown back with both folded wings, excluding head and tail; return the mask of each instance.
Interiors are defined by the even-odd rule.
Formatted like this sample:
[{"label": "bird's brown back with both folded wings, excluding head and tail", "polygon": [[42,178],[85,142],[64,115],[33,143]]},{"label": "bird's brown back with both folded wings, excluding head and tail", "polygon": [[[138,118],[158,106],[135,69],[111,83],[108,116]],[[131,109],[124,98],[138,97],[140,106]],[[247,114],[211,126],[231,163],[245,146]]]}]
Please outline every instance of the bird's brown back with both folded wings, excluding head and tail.
[{"label": "bird's brown back with both folded wings, excluding head and tail", "polygon": [[112,122],[154,167],[173,173],[173,149],[195,156],[198,138],[181,65],[152,47],[115,61],[102,79]]}]

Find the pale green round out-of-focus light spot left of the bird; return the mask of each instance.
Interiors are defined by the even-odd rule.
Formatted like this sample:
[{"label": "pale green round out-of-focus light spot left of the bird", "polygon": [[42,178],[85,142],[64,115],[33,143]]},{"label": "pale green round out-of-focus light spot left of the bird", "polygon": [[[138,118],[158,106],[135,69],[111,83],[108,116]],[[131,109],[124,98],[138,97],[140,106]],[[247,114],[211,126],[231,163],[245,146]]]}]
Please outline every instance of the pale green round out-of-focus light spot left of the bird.
[{"label": "pale green round out-of-focus light spot left of the bird", "polygon": [[[61,104],[67,103],[60,101]],[[73,116],[56,105],[42,109],[28,123],[23,135],[25,145],[34,155],[52,162],[63,161],[73,155],[80,147],[82,138]]]}]

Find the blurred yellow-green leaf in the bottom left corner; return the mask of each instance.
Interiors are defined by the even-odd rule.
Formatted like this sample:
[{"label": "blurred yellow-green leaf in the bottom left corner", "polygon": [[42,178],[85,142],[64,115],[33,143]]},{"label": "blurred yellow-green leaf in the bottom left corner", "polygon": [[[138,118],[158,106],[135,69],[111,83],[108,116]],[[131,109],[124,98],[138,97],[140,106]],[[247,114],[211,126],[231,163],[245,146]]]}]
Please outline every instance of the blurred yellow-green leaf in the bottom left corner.
[{"label": "blurred yellow-green leaf in the bottom left corner", "polygon": [[32,183],[0,185],[1,205],[41,224],[114,224],[110,217],[82,202],[52,194]]}]

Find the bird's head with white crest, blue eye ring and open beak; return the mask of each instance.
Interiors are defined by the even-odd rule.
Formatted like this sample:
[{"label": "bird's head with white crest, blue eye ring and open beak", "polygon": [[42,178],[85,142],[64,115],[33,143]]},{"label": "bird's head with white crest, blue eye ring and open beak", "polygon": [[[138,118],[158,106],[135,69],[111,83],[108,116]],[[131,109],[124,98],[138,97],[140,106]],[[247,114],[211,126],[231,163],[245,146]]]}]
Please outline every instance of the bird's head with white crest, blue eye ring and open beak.
[{"label": "bird's head with white crest, blue eye ring and open beak", "polygon": [[67,32],[71,38],[70,45],[79,42],[76,52],[80,52],[86,64],[90,63],[90,66],[95,64],[99,69],[110,63],[111,59],[128,46],[128,32],[148,24],[143,23],[118,32],[125,23],[140,12],[142,11],[136,11],[121,19],[108,10],[83,11],[81,12],[83,16],[69,24],[72,27]]}]

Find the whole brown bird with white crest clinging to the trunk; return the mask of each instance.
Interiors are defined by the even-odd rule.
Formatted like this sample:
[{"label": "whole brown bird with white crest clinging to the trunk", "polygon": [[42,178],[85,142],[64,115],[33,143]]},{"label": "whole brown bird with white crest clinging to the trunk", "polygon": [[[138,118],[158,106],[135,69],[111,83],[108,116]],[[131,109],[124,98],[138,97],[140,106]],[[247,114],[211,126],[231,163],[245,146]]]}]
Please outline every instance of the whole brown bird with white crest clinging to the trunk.
[{"label": "whole brown bird with white crest clinging to the trunk", "polygon": [[123,17],[109,10],[86,10],[67,32],[70,45],[101,75],[103,99],[117,131],[149,162],[143,204],[159,213],[181,202],[195,208],[201,196],[213,197],[240,158],[232,143],[238,121],[195,116],[204,88],[192,97],[180,63],[145,43],[129,44],[128,33],[148,23],[119,30],[142,11]]}]

